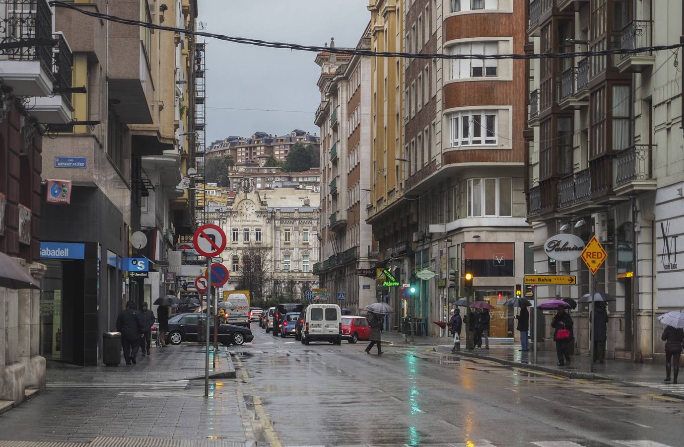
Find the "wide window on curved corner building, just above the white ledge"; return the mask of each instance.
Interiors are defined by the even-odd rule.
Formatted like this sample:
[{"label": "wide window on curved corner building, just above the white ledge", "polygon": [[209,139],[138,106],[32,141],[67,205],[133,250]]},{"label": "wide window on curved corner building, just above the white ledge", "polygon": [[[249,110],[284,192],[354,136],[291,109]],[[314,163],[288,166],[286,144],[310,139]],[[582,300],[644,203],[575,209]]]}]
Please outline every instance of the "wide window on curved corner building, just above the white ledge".
[{"label": "wide window on curved corner building, just above the white ledge", "polygon": [[468,216],[512,216],[512,179],[468,179]]}]

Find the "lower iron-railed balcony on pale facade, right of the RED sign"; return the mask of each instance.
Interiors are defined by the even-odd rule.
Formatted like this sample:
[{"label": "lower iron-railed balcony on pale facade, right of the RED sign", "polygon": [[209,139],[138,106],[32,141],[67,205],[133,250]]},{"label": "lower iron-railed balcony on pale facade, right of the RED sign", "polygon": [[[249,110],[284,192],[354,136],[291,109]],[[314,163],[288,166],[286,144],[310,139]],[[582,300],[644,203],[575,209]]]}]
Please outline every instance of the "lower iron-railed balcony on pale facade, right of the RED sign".
[{"label": "lower iron-railed balcony on pale facade, right of the RED sign", "polygon": [[653,179],[653,151],[655,145],[635,144],[622,149],[613,158],[613,190],[616,194],[655,190]]}]

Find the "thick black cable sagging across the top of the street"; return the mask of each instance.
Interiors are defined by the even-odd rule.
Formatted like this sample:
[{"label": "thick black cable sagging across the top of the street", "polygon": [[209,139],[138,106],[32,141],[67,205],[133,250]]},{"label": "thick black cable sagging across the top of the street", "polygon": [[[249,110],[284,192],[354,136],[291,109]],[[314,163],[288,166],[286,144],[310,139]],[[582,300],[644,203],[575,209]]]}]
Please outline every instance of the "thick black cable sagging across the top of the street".
[{"label": "thick black cable sagging across the top of the street", "polygon": [[51,6],[55,8],[67,8],[70,10],[75,10],[86,16],[91,16],[94,18],[100,18],[101,20],[111,21],[115,23],[121,23],[122,25],[132,25],[139,26],[150,29],[159,29],[161,31],[172,31],[185,34],[191,34],[192,36],[201,36],[207,38],[215,38],[218,40],[225,40],[226,42],[234,42],[239,44],[255,45],[257,47],[266,48],[280,48],[289,49],[295,51],[309,51],[313,53],[334,53],[342,55],[365,55],[374,56],[378,58],[415,58],[415,59],[477,59],[477,60],[500,60],[500,59],[565,59],[565,58],[581,58],[590,56],[605,56],[614,54],[624,54],[633,55],[639,53],[646,53],[652,51],[665,51],[672,49],[679,49],[684,47],[684,43],[674,43],[670,45],[653,45],[650,47],[640,47],[632,49],[615,48],[615,49],[605,49],[600,51],[574,51],[571,53],[530,53],[530,54],[520,54],[520,53],[510,53],[510,54],[443,54],[443,53],[406,53],[406,52],[393,52],[393,51],[372,51],[360,48],[336,48],[336,47],[319,47],[316,45],[301,45],[293,44],[288,42],[274,42],[269,40],[260,40],[244,37],[231,37],[224,34],[209,33],[206,31],[194,31],[192,29],[167,27],[163,25],[157,25],[155,23],[148,23],[143,21],[137,21],[129,18],[122,18],[119,16],[112,16],[110,14],[103,14],[101,12],[92,12],[78,8],[74,3],[66,3],[64,1],[51,0],[49,1]]}]

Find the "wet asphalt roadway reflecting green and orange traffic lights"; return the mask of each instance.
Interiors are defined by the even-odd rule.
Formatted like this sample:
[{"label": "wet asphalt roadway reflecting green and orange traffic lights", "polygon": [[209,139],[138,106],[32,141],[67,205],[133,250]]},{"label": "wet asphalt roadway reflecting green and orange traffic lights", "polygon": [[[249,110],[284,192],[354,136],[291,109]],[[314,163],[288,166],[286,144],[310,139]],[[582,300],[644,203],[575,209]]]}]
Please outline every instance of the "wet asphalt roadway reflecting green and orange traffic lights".
[{"label": "wet asphalt roadway reflecting green and orange traffic lights", "polygon": [[361,342],[304,346],[255,324],[252,331],[251,346],[233,351],[254,436],[264,444],[684,445],[684,403],[648,387],[570,380],[425,347],[386,346],[380,357],[365,354]]}]

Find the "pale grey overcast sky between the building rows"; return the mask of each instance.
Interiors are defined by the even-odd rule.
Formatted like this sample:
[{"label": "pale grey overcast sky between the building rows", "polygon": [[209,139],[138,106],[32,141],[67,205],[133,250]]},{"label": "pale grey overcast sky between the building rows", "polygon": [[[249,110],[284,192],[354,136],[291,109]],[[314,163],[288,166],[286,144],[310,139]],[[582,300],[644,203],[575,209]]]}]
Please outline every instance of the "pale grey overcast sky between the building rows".
[{"label": "pale grey overcast sky between the building rows", "polygon": [[[354,47],[370,20],[368,0],[199,0],[209,32],[234,37]],[[255,131],[319,133],[320,67],[308,51],[270,49],[207,39],[207,144]],[[261,112],[269,109],[298,112]]]}]

